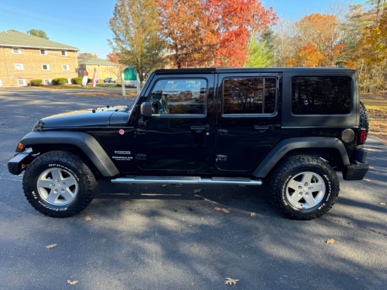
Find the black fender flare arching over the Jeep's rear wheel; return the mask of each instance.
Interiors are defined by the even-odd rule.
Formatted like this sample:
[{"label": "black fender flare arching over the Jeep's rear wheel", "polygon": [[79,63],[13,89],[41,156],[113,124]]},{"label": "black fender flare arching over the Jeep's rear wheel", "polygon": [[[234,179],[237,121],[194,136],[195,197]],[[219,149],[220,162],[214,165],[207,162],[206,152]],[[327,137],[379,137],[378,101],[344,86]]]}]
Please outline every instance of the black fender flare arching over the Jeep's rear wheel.
[{"label": "black fender flare arching over the Jeep's rear wheel", "polygon": [[334,148],[339,151],[342,163],[350,165],[347,151],[341,140],[334,137],[294,137],[278,142],[259,163],[253,176],[266,177],[286,153],[299,148]]}]

